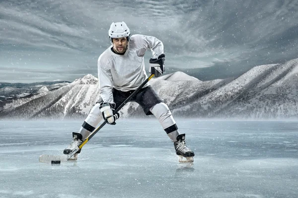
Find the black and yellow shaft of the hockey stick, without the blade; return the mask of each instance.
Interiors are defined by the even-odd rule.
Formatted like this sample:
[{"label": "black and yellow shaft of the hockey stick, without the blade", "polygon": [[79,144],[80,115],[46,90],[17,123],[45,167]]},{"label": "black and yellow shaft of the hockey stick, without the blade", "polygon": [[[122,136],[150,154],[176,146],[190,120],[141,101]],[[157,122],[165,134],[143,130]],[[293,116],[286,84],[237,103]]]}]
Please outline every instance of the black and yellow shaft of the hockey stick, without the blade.
[{"label": "black and yellow shaft of the hockey stick, without the blade", "polygon": [[[120,111],[120,109],[129,102],[134,96],[137,95],[137,93],[146,85],[151,78],[153,78],[154,74],[151,74],[124,102],[122,102],[114,111],[117,113]],[[69,160],[79,149],[81,149],[105,124],[107,123],[107,120],[105,120],[99,127],[97,127],[79,146],[76,148],[73,152],[69,153],[67,155],[67,160]]]}]

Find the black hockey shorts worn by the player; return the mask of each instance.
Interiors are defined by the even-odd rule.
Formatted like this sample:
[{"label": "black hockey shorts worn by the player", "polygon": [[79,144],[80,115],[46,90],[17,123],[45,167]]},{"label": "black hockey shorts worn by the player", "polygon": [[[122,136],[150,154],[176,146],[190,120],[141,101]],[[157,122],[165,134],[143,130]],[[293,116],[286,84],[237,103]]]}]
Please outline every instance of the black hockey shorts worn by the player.
[{"label": "black hockey shorts worn by the player", "polygon": [[[128,92],[122,92],[113,88],[112,93],[113,93],[114,102],[116,103],[116,108],[124,100],[126,100],[133,92],[134,90],[128,91]],[[96,103],[100,103],[102,101],[103,100],[100,98]],[[152,113],[150,112],[150,108],[152,106],[154,106],[157,103],[164,102],[163,99],[161,99],[158,96],[158,94],[151,86],[141,89],[140,92],[138,92],[138,94],[135,97],[133,97],[130,101],[134,101],[140,104],[144,112],[146,113],[146,115],[152,115]]]}]

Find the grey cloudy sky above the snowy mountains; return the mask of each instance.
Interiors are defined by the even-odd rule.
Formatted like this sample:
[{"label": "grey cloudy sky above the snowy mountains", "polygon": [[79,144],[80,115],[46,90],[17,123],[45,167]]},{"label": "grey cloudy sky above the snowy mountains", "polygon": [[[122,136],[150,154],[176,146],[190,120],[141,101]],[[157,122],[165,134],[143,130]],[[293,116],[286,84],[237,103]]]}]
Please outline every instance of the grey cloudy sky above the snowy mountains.
[{"label": "grey cloudy sky above the snowy mountains", "polygon": [[1,0],[0,82],[97,76],[121,21],[163,42],[166,73],[211,80],[298,58],[297,0]]}]

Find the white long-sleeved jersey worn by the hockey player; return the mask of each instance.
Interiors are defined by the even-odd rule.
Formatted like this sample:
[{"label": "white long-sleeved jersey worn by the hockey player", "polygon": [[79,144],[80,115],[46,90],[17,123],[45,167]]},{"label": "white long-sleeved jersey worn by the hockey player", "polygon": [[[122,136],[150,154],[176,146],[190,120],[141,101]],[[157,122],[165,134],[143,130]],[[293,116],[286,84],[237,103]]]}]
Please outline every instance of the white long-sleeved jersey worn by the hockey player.
[{"label": "white long-sleeved jersey worn by the hockey player", "polygon": [[[152,36],[133,35],[123,55],[106,49],[98,58],[100,97],[104,102],[114,102],[112,88],[123,92],[136,90],[147,78],[144,55],[151,49],[153,58],[163,53],[163,44]],[[149,86],[147,83],[144,87]]]}]

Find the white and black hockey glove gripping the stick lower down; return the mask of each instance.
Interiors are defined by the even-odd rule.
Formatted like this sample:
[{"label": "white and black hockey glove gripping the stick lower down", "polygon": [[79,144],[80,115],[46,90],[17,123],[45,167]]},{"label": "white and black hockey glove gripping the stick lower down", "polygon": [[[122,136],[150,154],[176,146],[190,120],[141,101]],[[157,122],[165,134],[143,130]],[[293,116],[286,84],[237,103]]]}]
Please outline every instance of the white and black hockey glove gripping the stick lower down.
[{"label": "white and black hockey glove gripping the stick lower down", "polygon": [[114,113],[115,111],[115,103],[108,103],[108,102],[101,102],[99,109],[102,113],[102,117],[104,120],[107,121],[108,124],[115,125],[117,120],[119,118],[119,113]]}]

